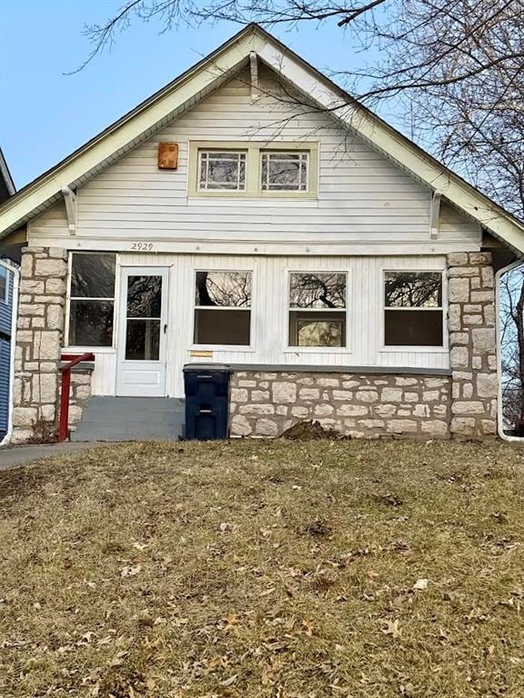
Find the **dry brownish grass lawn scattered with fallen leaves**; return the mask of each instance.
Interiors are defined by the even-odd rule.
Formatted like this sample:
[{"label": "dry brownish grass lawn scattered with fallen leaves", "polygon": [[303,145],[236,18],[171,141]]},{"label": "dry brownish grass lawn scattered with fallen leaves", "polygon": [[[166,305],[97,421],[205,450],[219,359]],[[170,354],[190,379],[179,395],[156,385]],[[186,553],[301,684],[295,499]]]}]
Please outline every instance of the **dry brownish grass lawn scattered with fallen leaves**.
[{"label": "dry brownish grass lawn scattered with fallen leaves", "polygon": [[523,466],[272,442],[0,473],[0,696],[521,698]]}]

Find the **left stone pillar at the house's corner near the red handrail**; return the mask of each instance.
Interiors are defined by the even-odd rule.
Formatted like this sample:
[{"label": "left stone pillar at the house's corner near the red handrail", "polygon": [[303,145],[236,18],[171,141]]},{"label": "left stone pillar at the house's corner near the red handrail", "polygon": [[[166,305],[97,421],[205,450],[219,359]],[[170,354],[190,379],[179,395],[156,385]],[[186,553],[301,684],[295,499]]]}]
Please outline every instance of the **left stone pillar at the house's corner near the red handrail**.
[{"label": "left stone pillar at the house's corner near the red handrail", "polygon": [[25,248],[16,335],[14,444],[45,441],[55,434],[66,278],[65,249]]}]

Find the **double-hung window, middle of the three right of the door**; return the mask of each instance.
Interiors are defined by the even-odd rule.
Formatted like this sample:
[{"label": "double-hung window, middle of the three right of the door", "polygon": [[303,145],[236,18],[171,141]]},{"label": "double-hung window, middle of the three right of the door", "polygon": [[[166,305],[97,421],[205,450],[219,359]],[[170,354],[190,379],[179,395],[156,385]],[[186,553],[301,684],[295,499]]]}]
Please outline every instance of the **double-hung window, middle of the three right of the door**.
[{"label": "double-hung window, middle of the three right of the door", "polygon": [[346,274],[289,274],[289,346],[347,345]]}]

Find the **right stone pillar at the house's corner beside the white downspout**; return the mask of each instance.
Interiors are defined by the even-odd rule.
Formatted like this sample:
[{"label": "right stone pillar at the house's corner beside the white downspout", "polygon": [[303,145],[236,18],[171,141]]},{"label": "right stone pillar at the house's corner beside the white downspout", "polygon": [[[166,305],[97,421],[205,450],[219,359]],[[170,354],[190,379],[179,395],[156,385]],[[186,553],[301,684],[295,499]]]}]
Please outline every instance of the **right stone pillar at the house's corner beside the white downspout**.
[{"label": "right stone pillar at the house's corner beside the white downspout", "polygon": [[497,335],[491,254],[448,254],[449,358],[455,436],[497,434]]}]

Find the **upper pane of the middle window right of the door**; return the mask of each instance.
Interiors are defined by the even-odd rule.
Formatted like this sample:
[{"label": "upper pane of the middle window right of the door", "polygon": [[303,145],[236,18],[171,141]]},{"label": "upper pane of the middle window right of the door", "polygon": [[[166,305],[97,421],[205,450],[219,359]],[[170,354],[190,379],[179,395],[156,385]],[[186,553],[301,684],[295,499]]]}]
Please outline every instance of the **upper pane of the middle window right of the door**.
[{"label": "upper pane of the middle window right of the door", "polygon": [[346,274],[290,274],[289,307],[345,308]]}]

